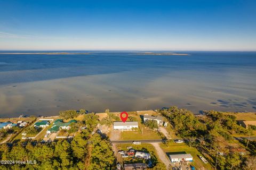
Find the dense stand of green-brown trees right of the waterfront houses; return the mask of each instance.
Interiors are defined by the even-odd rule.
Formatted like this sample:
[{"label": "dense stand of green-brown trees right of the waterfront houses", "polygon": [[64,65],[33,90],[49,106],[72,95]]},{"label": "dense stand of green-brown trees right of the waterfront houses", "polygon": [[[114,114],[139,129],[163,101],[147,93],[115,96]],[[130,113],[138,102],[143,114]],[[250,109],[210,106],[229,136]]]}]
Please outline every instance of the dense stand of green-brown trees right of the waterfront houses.
[{"label": "dense stand of green-brown trees right of the waterfront houses", "polygon": [[210,162],[215,169],[255,169],[255,150],[234,145],[234,134],[250,135],[252,132],[239,126],[235,116],[216,111],[204,111],[205,115],[195,116],[175,106],[158,112],[169,120],[175,133],[186,139],[190,147],[213,158]]}]

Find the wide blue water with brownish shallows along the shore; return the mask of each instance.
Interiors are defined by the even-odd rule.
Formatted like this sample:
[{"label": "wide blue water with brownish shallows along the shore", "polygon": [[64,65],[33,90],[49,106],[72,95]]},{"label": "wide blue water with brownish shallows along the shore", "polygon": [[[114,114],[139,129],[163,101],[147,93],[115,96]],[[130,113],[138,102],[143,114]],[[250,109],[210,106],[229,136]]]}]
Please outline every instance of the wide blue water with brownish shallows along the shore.
[{"label": "wide blue water with brownish shallows along the shore", "polygon": [[256,52],[186,53],[0,54],[0,117],[173,105],[256,112]]}]

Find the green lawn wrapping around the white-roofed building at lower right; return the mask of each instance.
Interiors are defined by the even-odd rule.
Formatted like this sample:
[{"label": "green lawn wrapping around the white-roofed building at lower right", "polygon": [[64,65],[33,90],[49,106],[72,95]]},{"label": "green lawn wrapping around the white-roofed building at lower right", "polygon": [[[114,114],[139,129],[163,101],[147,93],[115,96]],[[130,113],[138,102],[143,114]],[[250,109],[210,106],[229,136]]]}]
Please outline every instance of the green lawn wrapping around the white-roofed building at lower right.
[{"label": "green lawn wrapping around the white-roofed building at lower right", "polygon": [[[191,154],[193,156],[194,162],[191,164],[196,167],[196,169],[200,169],[204,167],[205,169],[212,169],[213,167],[211,164],[204,164],[202,160],[198,157],[203,156],[200,152],[193,147],[189,147],[183,143],[170,143],[168,146],[164,145],[163,143],[160,144],[160,147],[164,150],[164,152],[186,152],[186,154]],[[178,153],[175,153],[178,154]],[[182,153],[181,153],[182,154]]]}]

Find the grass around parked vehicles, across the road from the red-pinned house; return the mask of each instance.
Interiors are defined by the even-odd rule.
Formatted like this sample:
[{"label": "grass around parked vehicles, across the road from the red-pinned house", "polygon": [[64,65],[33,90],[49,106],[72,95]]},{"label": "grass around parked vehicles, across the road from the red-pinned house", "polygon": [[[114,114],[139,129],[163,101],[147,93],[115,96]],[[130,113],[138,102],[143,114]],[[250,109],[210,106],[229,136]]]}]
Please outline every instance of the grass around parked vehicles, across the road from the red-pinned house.
[{"label": "grass around parked vehicles, across the road from the red-pinned house", "polygon": [[[151,156],[151,160],[154,162],[161,162],[161,159],[159,159],[158,155],[156,154],[156,150],[154,146],[150,145],[149,143],[142,143],[141,145],[133,145],[133,144],[119,144],[116,145],[118,150],[124,150],[127,151],[127,147],[132,146],[135,150],[142,150],[145,152],[148,152]],[[145,163],[145,159],[139,159],[135,157],[128,157],[128,158],[122,158],[124,163]]]}]

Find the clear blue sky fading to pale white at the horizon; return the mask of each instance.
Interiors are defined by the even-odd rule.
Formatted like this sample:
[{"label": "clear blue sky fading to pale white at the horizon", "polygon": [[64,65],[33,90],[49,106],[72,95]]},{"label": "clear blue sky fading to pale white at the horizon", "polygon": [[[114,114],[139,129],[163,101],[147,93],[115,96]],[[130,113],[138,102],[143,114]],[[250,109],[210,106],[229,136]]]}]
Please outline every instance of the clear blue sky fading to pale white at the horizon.
[{"label": "clear blue sky fading to pale white at the horizon", "polygon": [[256,50],[256,1],[0,0],[0,50]]}]

